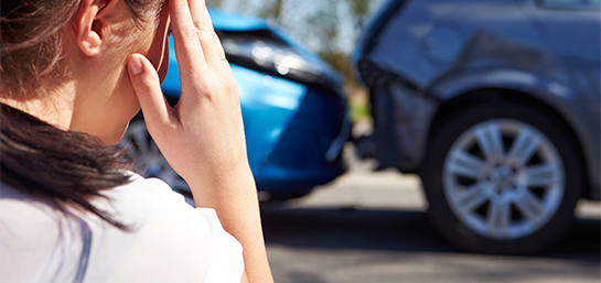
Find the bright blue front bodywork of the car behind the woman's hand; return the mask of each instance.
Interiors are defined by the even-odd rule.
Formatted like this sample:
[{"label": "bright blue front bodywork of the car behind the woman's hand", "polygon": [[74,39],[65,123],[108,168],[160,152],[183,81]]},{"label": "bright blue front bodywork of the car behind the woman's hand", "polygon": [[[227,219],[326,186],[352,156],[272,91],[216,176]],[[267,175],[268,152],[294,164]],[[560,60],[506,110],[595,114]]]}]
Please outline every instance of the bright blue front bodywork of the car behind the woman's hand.
[{"label": "bright blue front bodywork of the car behind the woman's hand", "polygon": [[343,172],[325,159],[341,131],[337,116],[345,111],[337,98],[299,83],[236,65],[232,68],[239,88],[248,161],[259,189],[277,194],[312,188]]}]

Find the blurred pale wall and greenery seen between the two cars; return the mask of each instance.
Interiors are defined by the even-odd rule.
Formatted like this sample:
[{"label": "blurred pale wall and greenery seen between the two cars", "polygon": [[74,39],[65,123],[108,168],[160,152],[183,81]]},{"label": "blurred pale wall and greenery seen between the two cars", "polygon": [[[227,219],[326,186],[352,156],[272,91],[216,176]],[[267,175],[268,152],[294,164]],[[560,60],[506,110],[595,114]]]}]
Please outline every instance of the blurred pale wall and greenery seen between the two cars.
[{"label": "blurred pale wall and greenery seen between the two cars", "polygon": [[353,121],[369,121],[367,90],[351,62],[367,19],[385,0],[207,0],[211,8],[258,17],[282,26],[344,76]]}]

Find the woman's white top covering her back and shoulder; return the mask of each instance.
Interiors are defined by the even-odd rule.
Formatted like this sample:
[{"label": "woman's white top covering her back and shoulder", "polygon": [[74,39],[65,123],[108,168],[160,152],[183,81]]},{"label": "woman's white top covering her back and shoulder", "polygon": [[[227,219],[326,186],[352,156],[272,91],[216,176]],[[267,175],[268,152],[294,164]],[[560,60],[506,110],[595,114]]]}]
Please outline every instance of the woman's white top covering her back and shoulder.
[{"label": "woman's white top covering her back and shoulder", "polygon": [[132,178],[94,203],[131,231],[0,185],[0,282],[240,282],[242,246],[215,210]]}]

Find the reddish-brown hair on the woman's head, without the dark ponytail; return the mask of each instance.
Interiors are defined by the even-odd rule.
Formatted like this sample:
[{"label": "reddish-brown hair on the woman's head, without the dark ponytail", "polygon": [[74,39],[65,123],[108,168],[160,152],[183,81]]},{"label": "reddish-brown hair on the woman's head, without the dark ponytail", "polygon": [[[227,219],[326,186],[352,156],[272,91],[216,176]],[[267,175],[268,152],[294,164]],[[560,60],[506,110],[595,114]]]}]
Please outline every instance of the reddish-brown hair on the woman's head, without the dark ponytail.
[{"label": "reddish-brown hair on the woman's head, without the dark ponytail", "polygon": [[[68,76],[62,68],[63,33],[84,0],[2,0],[0,26],[0,94],[12,99],[42,95],[42,86]],[[144,20],[161,0],[122,0],[131,20]],[[149,6],[152,9],[148,9]],[[41,94],[42,92],[42,94]]]}]

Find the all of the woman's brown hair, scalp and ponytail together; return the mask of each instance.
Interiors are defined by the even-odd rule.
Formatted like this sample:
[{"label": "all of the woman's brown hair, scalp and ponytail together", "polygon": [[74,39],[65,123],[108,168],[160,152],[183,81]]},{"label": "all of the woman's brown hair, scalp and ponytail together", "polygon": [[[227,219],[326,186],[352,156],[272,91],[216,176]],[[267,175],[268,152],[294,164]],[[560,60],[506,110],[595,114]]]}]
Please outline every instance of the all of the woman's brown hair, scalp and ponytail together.
[{"label": "all of the woman's brown hair, scalp and ponytail together", "polygon": [[[160,11],[161,0],[124,0],[139,23],[146,11]],[[0,95],[28,100],[44,94],[62,69],[63,33],[81,0],[2,0]],[[151,7],[149,7],[151,6]],[[150,8],[150,9],[149,9]],[[146,9],[146,10],[144,10]],[[159,12],[157,11],[157,12]],[[60,130],[31,115],[1,106],[0,178],[3,184],[54,203],[90,211],[124,228],[90,199],[100,191],[129,182],[127,150],[105,146],[95,135]]]}]

